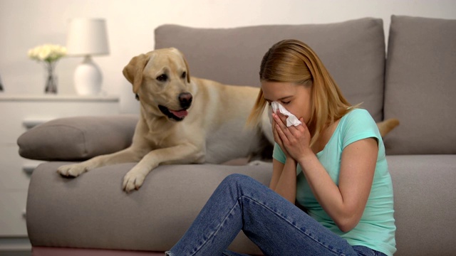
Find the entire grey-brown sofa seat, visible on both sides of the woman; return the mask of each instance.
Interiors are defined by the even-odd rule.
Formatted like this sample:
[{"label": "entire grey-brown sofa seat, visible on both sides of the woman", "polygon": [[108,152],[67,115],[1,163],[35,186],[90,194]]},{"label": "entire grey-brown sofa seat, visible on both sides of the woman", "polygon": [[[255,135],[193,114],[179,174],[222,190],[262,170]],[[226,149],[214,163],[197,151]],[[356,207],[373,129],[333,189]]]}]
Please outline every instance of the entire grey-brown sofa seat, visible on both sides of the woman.
[{"label": "entire grey-brown sofa seat, visible on both sides of the woman", "polygon": [[[403,155],[387,159],[393,178],[398,252],[420,255],[417,244],[429,251],[444,247],[455,252],[456,157]],[[139,191],[127,194],[121,185],[133,163],[102,167],[78,178],[57,175],[61,164],[67,163],[41,164],[33,172],[27,228],[34,246],[165,251],[185,233],[225,176],[242,173],[265,185],[271,177],[271,164],[160,166],[147,176]],[[445,195],[436,196],[442,191]],[[230,249],[261,253],[243,234]]]}]

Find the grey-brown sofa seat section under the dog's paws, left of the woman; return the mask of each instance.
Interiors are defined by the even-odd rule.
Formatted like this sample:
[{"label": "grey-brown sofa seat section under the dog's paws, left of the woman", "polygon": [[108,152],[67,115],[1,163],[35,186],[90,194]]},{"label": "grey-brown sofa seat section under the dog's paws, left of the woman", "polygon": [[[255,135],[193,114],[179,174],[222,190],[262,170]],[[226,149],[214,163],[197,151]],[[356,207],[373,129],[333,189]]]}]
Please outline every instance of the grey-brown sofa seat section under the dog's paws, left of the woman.
[{"label": "grey-brown sofa seat section under the dog's paws, left of the woman", "polygon": [[[78,178],[56,174],[62,164],[68,162],[41,164],[31,176],[26,220],[34,247],[170,250],[226,176],[245,174],[266,185],[272,171],[272,164],[163,165],[138,191],[125,193],[123,176],[134,163],[103,166]],[[261,254],[244,233],[229,250]]]}]

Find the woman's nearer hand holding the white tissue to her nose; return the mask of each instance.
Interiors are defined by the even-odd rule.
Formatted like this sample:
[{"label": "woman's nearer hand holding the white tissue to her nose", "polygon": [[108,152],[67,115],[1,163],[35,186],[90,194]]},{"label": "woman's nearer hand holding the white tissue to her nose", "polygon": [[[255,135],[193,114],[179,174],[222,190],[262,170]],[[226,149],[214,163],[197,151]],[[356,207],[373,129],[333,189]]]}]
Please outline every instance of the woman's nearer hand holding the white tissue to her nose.
[{"label": "woman's nearer hand holding the white tissue to her nose", "polygon": [[273,113],[272,117],[275,121],[276,132],[293,159],[299,161],[306,154],[313,154],[310,148],[311,134],[302,117],[299,118],[301,124],[291,127],[286,127],[286,116],[284,114]]}]

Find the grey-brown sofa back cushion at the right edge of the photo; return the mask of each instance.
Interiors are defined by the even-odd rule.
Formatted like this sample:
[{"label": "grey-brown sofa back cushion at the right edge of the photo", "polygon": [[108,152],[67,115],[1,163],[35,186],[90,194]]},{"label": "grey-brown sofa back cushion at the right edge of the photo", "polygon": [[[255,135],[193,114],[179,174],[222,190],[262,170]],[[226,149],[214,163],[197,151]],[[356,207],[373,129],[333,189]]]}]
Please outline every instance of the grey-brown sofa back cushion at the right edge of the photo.
[{"label": "grey-brown sofa back cushion at the right edge of the photo", "polygon": [[455,67],[456,20],[391,17],[385,118],[400,126],[388,154],[456,154]]}]

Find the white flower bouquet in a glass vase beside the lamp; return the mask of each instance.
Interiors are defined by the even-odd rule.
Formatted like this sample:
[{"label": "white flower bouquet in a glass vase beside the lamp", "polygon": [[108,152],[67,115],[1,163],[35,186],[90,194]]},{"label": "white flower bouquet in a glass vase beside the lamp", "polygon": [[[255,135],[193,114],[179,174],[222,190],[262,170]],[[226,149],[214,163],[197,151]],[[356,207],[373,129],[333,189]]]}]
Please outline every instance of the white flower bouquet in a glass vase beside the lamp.
[{"label": "white flower bouquet in a glass vase beside the lamp", "polygon": [[28,58],[42,62],[46,68],[45,93],[57,93],[57,77],[54,72],[57,61],[65,55],[65,47],[51,44],[36,46],[28,50]]}]

